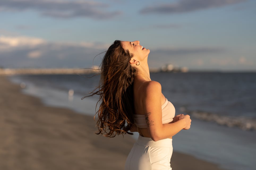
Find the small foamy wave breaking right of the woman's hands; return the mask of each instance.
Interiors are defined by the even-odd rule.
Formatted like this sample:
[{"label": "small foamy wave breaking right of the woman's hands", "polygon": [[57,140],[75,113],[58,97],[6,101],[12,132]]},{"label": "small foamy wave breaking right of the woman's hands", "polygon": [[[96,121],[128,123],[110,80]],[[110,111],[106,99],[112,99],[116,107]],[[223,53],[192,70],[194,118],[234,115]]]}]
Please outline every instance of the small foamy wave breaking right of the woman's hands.
[{"label": "small foamy wave breaking right of the woman's hands", "polygon": [[256,130],[256,120],[248,117],[232,117],[232,116],[222,116],[214,113],[204,112],[204,111],[187,111],[192,117],[204,120],[216,122],[217,124],[228,126],[228,127],[238,127],[245,131]]}]

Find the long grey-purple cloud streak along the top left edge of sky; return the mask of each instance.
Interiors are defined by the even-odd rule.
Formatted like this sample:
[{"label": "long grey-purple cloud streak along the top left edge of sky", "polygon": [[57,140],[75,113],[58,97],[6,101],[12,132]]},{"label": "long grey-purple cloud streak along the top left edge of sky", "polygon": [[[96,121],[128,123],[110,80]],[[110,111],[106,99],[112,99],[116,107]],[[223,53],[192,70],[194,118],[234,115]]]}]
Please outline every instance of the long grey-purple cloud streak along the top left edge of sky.
[{"label": "long grey-purple cloud streak along the top left edge of sky", "polygon": [[57,18],[89,17],[109,19],[121,15],[120,11],[106,11],[108,5],[94,1],[68,0],[1,0],[0,9],[4,11],[37,10],[44,16]]}]

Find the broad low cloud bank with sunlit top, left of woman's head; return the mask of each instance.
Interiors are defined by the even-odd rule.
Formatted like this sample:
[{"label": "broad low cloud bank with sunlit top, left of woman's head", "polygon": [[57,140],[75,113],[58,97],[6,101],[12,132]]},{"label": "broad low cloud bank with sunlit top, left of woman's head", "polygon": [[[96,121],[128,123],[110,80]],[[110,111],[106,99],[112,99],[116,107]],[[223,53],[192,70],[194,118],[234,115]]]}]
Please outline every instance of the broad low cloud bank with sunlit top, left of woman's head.
[{"label": "broad low cloud bank with sunlit top, left of woman's head", "polygon": [[[109,44],[48,42],[34,37],[0,36],[0,66],[4,68],[88,68]],[[96,57],[95,64],[99,64]]]}]

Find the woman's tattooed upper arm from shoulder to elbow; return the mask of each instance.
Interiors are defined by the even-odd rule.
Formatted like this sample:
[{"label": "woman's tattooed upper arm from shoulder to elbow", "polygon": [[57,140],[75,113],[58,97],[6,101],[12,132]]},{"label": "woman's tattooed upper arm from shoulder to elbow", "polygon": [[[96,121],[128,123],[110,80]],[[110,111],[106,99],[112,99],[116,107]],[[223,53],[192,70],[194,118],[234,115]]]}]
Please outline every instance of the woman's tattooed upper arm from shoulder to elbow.
[{"label": "woman's tattooed upper arm from shoulder to elbow", "polygon": [[158,131],[163,127],[161,84],[155,81],[150,81],[148,82],[145,90],[145,119],[151,138],[153,140],[157,140],[159,137]]}]

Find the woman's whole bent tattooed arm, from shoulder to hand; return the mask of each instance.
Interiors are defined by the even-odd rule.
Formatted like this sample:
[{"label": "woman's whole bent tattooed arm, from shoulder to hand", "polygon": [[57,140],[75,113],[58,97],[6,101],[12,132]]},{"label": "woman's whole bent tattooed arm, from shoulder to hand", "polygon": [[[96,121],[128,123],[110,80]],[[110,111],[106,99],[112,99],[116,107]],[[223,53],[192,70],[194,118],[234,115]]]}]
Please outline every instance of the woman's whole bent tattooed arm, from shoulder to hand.
[{"label": "woman's whole bent tattooed arm, from shoulder to hand", "polygon": [[189,129],[191,124],[189,115],[180,115],[178,121],[163,124],[161,99],[161,84],[155,81],[148,82],[143,105],[148,131],[154,141],[170,138],[182,129]]}]

